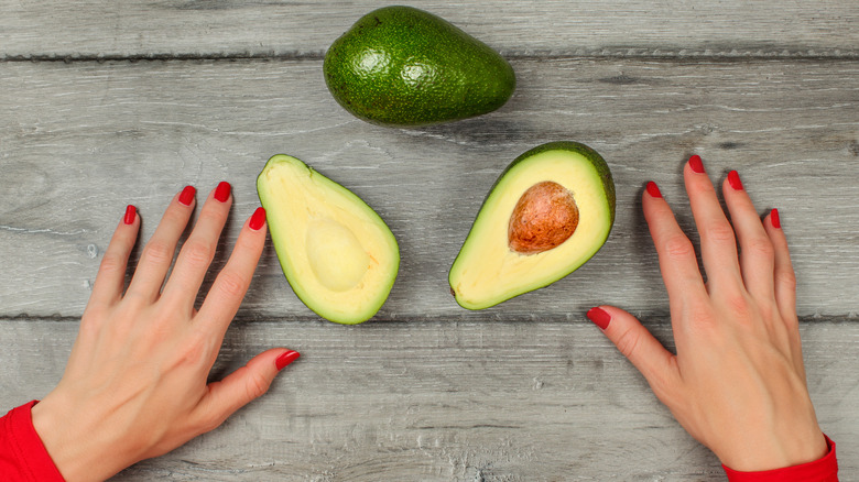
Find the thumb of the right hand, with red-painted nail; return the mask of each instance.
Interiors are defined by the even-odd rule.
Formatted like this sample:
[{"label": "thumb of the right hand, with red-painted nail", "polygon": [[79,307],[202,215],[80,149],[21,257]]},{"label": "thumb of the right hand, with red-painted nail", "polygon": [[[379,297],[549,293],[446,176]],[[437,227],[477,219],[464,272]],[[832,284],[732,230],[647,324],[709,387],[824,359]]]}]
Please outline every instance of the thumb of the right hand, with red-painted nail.
[{"label": "thumb of the right hand, with red-painted nail", "polygon": [[621,354],[648,380],[653,393],[665,399],[681,382],[676,357],[629,313],[613,306],[599,306],[587,313]]}]

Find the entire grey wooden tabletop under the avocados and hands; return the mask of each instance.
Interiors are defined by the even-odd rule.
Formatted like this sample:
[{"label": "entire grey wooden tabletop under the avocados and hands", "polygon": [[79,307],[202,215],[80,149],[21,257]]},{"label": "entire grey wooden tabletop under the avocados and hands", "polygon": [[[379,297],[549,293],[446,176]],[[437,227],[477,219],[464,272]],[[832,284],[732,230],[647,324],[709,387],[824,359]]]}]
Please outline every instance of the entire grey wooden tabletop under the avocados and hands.
[{"label": "entire grey wooden tabletop under the avocados and hands", "polygon": [[[859,479],[855,0],[403,3],[500,51],[513,98],[425,129],[344,111],[323,55],[372,1],[1,0],[0,406],[59,379],[127,204],[145,240],[184,185],[229,180],[226,253],[259,204],[257,174],[289,153],[388,221],[402,255],[389,302],[361,326],[322,320],[269,247],[214,376],[268,347],[302,359],[218,430],[116,480],[722,480],[584,317],[616,304],[671,346],[640,195],[656,180],[692,231],[681,169],[698,153],[781,211],[812,396],[842,480]],[[551,287],[459,308],[447,270],[486,191],[555,140],[611,166],[608,243]]]}]

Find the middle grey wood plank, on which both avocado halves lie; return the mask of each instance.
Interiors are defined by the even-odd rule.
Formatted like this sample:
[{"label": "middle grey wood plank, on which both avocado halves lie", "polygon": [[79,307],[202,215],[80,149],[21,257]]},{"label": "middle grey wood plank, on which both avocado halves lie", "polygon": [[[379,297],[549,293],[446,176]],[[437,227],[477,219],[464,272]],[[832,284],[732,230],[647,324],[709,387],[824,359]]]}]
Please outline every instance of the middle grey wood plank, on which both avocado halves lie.
[{"label": "middle grey wood plank, on which both avocado halves lie", "polygon": [[[519,90],[499,111],[396,130],[340,109],[318,61],[2,64],[0,314],[79,316],[126,204],[148,239],[185,184],[204,194],[233,184],[228,249],[258,205],[257,174],[285,152],[355,190],[398,237],[401,271],[379,319],[566,319],[602,302],[664,311],[639,199],[655,179],[691,229],[681,176],[691,153],[714,177],[739,169],[761,211],[781,209],[801,315],[856,316],[859,63],[535,58],[514,68]],[[447,270],[487,190],[517,155],[563,139],[612,168],[608,243],[548,288],[459,308]],[[314,317],[271,248],[241,316]]]}]

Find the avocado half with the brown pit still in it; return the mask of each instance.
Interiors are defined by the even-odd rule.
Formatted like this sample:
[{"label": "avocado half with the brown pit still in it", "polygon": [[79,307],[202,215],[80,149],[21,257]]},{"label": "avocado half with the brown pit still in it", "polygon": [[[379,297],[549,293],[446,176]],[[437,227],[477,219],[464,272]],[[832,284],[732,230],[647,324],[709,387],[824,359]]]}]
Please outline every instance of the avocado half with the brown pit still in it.
[{"label": "avocado half with the brown pit still in it", "polygon": [[552,142],[501,173],[448,275],[456,302],[483,309],[585,264],[615,222],[615,183],[596,151]]}]

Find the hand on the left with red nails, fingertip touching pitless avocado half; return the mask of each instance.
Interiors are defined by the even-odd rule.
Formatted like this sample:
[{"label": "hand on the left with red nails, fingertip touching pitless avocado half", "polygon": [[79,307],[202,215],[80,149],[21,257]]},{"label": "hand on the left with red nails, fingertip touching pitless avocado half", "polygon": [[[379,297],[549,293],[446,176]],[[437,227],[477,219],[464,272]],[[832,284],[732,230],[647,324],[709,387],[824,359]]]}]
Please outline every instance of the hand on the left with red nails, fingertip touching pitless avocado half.
[{"label": "hand on the left with red nails, fingertip touching pitless avocado half", "polygon": [[[59,384],[33,407],[33,425],[63,476],[104,480],[219,426],[265,393],[298,353],[268,350],[220,382],[206,383],[265,242],[265,211],[244,223],[197,311],[194,303],[232,196],[220,183],[204,204],[170,276],[195,207],[186,187],[164,212],[124,291],[140,229],[129,206],[105,252]],[[165,283],[166,280],[166,283]]]}]

